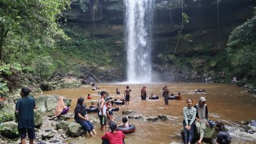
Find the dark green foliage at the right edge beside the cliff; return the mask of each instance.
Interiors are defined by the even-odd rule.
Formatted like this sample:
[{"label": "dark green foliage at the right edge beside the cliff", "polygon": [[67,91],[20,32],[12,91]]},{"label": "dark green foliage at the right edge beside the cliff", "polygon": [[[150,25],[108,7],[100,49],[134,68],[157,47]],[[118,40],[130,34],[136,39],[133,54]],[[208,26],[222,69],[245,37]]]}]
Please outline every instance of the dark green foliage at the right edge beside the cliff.
[{"label": "dark green foliage at the right edge beside the cliff", "polygon": [[238,26],[228,38],[227,55],[234,74],[256,79],[256,16]]}]

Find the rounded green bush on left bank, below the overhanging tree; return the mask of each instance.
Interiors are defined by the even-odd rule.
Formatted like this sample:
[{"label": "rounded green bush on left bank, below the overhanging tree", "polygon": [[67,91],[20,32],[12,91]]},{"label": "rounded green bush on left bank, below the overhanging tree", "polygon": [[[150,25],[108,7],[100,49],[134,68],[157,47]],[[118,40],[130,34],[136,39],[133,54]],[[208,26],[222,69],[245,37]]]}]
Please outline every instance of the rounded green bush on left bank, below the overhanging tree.
[{"label": "rounded green bush on left bank, below the overhanging tree", "polygon": [[48,80],[56,69],[50,56],[38,56],[34,61],[34,67],[36,74],[40,76],[42,81]]}]

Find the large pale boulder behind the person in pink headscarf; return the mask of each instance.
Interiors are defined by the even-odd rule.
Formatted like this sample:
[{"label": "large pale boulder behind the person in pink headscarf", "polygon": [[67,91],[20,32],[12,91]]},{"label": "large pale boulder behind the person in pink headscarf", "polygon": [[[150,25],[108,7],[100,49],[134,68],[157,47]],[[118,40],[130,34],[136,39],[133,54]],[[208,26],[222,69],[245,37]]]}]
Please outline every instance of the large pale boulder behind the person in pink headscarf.
[{"label": "large pale boulder behind the person in pink headscarf", "polygon": [[[60,95],[40,95],[35,99],[38,110],[42,112],[42,115],[54,115],[59,97]],[[71,99],[64,97],[63,101],[65,106],[70,106]]]}]

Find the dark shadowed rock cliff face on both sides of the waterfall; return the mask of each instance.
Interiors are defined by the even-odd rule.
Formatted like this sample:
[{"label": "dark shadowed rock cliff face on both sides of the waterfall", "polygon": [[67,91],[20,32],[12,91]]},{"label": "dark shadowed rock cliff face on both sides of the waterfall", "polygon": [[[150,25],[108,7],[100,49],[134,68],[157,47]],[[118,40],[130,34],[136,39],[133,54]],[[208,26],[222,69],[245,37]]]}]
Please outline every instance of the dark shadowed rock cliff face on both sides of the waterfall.
[{"label": "dark shadowed rock cliff face on both sides of the waterfall", "polygon": [[[83,35],[109,38],[118,45],[120,49],[114,53],[118,52],[120,67],[116,69],[122,71],[121,77],[125,79],[124,1],[90,1],[72,0],[71,9],[63,12],[67,27]],[[184,25],[177,45],[180,31],[177,25],[182,22],[181,1],[156,0],[152,38],[154,70],[167,81],[219,77],[221,71],[228,71],[225,62],[228,35],[252,17],[256,1],[184,0],[183,6],[189,23]]]}]

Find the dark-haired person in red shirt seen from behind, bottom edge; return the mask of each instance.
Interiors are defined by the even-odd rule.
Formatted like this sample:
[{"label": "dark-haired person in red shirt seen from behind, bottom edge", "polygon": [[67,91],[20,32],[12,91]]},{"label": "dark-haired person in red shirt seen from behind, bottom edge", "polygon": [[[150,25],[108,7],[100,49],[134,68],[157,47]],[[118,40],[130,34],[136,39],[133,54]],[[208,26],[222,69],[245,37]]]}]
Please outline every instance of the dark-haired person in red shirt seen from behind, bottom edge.
[{"label": "dark-haired person in red shirt seen from behind, bottom edge", "polygon": [[124,144],[125,134],[122,131],[116,131],[116,123],[110,122],[109,129],[111,132],[107,132],[102,136],[101,140],[104,144]]}]

